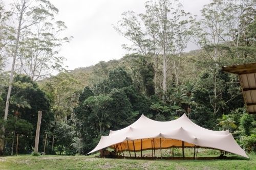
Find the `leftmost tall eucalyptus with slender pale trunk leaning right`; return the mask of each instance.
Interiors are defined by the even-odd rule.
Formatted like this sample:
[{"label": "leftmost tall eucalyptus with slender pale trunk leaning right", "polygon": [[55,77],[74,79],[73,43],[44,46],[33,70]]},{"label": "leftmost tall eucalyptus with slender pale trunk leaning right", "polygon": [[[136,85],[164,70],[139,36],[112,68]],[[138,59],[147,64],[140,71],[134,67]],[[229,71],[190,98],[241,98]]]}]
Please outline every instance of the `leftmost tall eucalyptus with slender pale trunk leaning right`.
[{"label": "leftmost tall eucalyptus with slender pale trunk leaning right", "polygon": [[[31,29],[32,26],[40,23],[41,21],[46,20],[46,18],[52,18],[54,13],[58,13],[58,9],[54,7],[49,1],[46,0],[15,0],[12,5],[12,13],[14,19],[14,30],[15,30],[15,42],[13,44],[13,49],[11,51],[13,61],[12,61],[12,68],[9,80],[9,88],[7,93],[7,100],[6,100],[6,108],[5,108],[5,116],[4,119],[7,119],[8,116],[8,109],[9,109],[9,102],[10,102],[10,95],[12,89],[12,81],[13,81],[13,74],[15,68],[15,62],[18,54],[18,49],[20,46],[20,37],[24,35],[24,32],[27,32]],[[17,23],[17,25],[16,25]],[[0,150],[2,151],[4,147],[3,141],[1,142]],[[1,153],[0,151],[0,153]]]}]

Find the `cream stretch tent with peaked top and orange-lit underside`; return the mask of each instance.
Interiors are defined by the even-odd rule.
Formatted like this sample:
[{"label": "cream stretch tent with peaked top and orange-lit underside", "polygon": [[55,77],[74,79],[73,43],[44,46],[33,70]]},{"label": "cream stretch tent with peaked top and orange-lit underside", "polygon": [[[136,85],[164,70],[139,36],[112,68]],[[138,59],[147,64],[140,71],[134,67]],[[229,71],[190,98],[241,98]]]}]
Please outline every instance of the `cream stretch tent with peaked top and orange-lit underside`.
[{"label": "cream stretch tent with peaked top and orange-lit underside", "polygon": [[182,145],[186,148],[218,149],[248,158],[228,130],[204,129],[191,122],[186,114],[169,122],[158,122],[142,114],[132,125],[118,131],[110,131],[109,136],[101,136],[97,147],[88,154],[106,147],[115,149],[117,152],[138,152],[181,148]]}]

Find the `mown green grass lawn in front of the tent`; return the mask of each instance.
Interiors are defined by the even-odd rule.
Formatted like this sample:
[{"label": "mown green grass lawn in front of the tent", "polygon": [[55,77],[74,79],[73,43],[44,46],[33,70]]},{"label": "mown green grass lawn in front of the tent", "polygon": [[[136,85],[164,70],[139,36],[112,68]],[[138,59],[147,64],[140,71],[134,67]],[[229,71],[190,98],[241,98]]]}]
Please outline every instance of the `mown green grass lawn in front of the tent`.
[{"label": "mown green grass lawn in front of the tent", "polygon": [[95,158],[90,156],[31,156],[0,157],[0,169],[256,169],[256,155],[250,159],[228,156],[232,159],[212,160],[139,160]]}]

